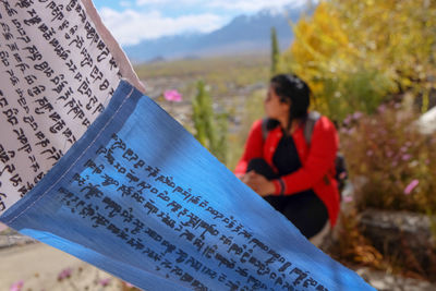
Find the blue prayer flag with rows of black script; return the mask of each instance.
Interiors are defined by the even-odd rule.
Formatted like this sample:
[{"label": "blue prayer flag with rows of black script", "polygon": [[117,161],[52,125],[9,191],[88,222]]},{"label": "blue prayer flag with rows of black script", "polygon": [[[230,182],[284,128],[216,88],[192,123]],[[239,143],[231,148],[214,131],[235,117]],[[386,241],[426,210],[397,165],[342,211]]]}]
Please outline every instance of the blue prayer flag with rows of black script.
[{"label": "blue prayer flag with rows of black script", "polygon": [[123,81],[0,220],[144,290],[373,290]]}]

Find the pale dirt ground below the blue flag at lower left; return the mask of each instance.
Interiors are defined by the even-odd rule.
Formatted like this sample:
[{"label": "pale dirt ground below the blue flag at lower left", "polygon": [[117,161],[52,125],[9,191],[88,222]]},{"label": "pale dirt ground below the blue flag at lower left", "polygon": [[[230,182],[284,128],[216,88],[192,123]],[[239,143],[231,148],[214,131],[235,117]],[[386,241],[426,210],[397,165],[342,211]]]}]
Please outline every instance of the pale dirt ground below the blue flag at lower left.
[{"label": "pale dirt ground below the blue flag at lower left", "polygon": [[[59,274],[68,268],[71,277],[59,281]],[[0,290],[10,290],[21,280],[24,282],[22,290],[33,291],[121,289],[120,280],[43,243],[0,250]]]}]

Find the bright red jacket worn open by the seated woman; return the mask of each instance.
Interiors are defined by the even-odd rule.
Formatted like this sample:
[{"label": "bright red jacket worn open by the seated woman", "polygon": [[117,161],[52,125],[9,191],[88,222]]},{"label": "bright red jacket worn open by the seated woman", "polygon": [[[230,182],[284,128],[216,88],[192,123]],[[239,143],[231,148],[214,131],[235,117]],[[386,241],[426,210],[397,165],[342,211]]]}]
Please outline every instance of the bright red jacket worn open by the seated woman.
[{"label": "bright red jacket worn open by the seated woman", "polygon": [[[335,159],[339,146],[338,133],[331,121],[322,117],[315,123],[311,147],[308,147],[303,129],[304,125],[301,125],[292,134],[302,167],[295,172],[280,178],[284,184],[283,192],[279,180],[274,180],[276,191],[271,194],[292,195],[312,189],[326,205],[330,225],[335,226],[339,214],[339,192],[335,180]],[[253,158],[264,158],[275,169],[272,156],[282,135],[280,126],[277,126],[268,132],[264,141],[262,120],[255,121],[234,173],[237,175],[244,174],[249,161]]]}]

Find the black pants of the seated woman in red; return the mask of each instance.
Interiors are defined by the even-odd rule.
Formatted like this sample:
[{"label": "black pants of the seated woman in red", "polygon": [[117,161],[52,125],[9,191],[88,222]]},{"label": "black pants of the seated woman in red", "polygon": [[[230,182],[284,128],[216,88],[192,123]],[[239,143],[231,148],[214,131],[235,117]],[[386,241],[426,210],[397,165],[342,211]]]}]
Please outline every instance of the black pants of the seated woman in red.
[{"label": "black pants of the seated woman in red", "polygon": [[[265,175],[268,180],[280,177],[261,158],[252,159],[249,162],[246,171],[251,170]],[[322,231],[328,220],[327,207],[312,190],[292,195],[270,195],[266,196],[265,201],[284,215],[307,239]]]}]

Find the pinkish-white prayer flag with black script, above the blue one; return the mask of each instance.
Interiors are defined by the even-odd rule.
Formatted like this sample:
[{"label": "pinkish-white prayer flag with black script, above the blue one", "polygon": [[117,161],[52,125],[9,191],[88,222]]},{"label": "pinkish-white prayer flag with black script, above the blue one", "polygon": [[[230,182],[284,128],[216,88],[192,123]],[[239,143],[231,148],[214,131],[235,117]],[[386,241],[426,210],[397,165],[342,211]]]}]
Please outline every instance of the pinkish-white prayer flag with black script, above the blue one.
[{"label": "pinkish-white prayer flag with black script, above the blue one", "polygon": [[0,214],[85,133],[121,76],[143,89],[90,0],[0,1]]}]

